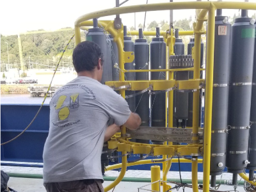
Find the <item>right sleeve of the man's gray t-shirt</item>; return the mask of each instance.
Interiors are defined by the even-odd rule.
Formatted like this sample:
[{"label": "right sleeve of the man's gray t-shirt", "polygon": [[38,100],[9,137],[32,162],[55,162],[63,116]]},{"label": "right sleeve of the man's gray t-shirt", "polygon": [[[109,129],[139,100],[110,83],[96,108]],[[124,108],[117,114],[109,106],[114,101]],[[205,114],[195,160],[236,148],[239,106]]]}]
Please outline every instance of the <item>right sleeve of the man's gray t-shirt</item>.
[{"label": "right sleeve of the man's gray t-shirt", "polygon": [[131,115],[131,110],[126,100],[118,93],[108,87],[108,93],[102,95],[104,97],[104,109],[110,118],[113,118],[118,126],[124,125]]}]

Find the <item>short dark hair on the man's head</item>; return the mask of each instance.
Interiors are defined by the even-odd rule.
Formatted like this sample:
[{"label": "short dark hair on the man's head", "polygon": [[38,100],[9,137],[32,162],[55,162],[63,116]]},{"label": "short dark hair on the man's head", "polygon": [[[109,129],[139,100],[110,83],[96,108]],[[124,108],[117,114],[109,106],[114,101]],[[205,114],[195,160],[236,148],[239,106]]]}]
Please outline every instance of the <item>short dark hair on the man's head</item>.
[{"label": "short dark hair on the man's head", "polygon": [[74,49],[73,65],[77,73],[84,70],[91,71],[98,65],[99,58],[101,58],[102,65],[103,54],[99,45],[94,42],[81,42]]}]

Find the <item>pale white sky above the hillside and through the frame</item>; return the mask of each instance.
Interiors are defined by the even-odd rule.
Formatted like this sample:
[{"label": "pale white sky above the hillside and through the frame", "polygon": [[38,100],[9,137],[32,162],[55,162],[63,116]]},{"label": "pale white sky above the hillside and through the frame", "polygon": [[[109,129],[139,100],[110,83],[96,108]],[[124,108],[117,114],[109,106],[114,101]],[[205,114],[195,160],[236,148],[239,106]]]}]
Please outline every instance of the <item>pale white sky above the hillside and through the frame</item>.
[{"label": "pale white sky above the hillside and through the frame", "polygon": [[[120,3],[124,0],[120,0]],[[150,3],[168,3],[170,0],[148,0]],[[196,1],[196,0],[173,0],[174,2]],[[207,1],[207,0],[202,0]],[[216,0],[214,0],[216,1]],[[223,0],[231,1],[231,0]],[[232,0],[244,2],[244,0]],[[255,2],[256,0],[249,0]],[[135,4],[146,4],[147,0],[129,0],[122,6]],[[78,17],[86,13],[113,8],[115,0],[1,0],[0,11],[0,33],[2,35],[17,35],[26,31],[37,31],[44,29],[54,31],[60,28],[74,28],[74,22]],[[239,10],[223,10],[223,15],[233,17]],[[248,15],[253,15],[255,11],[249,10]],[[136,13],[136,28],[143,24],[145,12]],[[169,11],[147,12],[146,25],[152,20],[160,22],[168,20]],[[190,15],[195,17],[195,10],[174,10],[173,20],[189,19]],[[130,28],[134,26],[134,13],[120,15],[124,25]],[[115,16],[100,18],[102,20],[113,20]]]}]

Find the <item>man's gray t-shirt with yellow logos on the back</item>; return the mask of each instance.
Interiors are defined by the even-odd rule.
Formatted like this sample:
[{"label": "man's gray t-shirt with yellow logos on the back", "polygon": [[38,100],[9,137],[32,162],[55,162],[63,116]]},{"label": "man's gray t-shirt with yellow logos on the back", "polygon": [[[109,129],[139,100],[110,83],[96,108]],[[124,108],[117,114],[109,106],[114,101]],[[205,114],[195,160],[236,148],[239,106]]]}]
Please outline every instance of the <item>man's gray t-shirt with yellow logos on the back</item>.
[{"label": "man's gray t-shirt with yellow logos on the back", "polygon": [[79,76],[56,91],[44,146],[44,182],[102,179],[100,156],[109,119],[123,125],[131,111],[108,86]]}]

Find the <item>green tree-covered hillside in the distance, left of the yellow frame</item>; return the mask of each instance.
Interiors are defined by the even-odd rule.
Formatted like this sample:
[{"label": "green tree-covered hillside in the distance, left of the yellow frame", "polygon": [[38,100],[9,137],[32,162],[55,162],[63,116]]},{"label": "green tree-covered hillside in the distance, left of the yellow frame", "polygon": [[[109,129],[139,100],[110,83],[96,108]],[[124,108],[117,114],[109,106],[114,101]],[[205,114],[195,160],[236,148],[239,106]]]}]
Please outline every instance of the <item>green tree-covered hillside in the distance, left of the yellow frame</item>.
[{"label": "green tree-covered hillside in the distance, left of the yellow frame", "polygon": [[[38,31],[44,31],[39,29]],[[47,60],[54,58],[60,54],[74,34],[74,30],[56,31],[51,33],[28,33],[20,35],[22,46],[23,60]],[[82,40],[84,37],[82,36]],[[0,61],[8,61],[7,47],[5,42],[8,42],[8,51],[10,63],[19,63],[19,44],[17,35],[2,36],[0,35]],[[72,56],[74,49],[74,39],[70,42],[65,52],[64,57]]]}]

